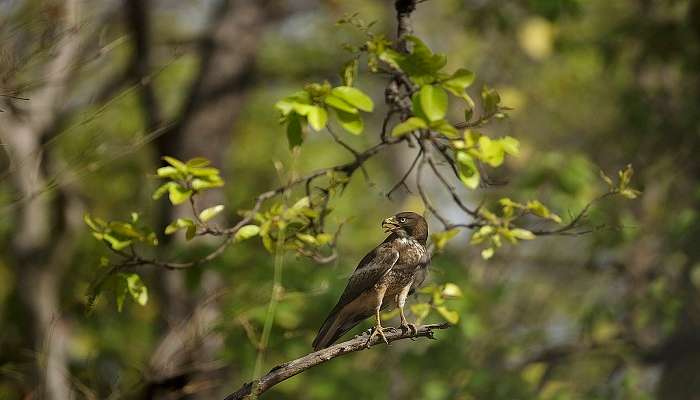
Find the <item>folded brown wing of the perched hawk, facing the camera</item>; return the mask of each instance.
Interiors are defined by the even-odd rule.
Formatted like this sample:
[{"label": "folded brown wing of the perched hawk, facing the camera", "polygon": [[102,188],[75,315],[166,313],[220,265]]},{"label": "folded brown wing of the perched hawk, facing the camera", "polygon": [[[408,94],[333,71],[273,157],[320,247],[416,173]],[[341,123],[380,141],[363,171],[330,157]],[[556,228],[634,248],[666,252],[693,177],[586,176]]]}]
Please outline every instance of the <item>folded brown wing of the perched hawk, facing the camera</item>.
[{"label": "folded brown wing of the perched hawk, facing the camera", "polygon": [[399,252],[389,243],[382,243],[368,253],[355,268],[348,280],[338,304],[333,311],[355,300],[359,295],[374,286],[379,279],[396,264]]}]

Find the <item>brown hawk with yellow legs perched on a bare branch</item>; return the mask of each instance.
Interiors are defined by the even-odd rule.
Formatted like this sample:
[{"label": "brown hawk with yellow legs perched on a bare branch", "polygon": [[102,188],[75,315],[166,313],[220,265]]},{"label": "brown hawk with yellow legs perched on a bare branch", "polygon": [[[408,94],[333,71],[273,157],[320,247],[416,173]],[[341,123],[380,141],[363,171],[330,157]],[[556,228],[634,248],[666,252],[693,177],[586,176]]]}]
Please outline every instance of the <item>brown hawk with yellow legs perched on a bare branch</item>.
[{"label": "brown hawk with yellow legs perched on a bare branch", "polygon": [[333,344],[361,321],[374,316],[376,324],[367,346],[379,335],[388,344],[379,312],[396,305],[401,315],[401,328],[416,332],[404,315],[406,298],[423,283],[429,263],[426,250],[428,224],[413,212],[402,212],[382,221],[389,233],[370,251],[350,276],[338,304],[333,307],[313,342],[314,350]]}]

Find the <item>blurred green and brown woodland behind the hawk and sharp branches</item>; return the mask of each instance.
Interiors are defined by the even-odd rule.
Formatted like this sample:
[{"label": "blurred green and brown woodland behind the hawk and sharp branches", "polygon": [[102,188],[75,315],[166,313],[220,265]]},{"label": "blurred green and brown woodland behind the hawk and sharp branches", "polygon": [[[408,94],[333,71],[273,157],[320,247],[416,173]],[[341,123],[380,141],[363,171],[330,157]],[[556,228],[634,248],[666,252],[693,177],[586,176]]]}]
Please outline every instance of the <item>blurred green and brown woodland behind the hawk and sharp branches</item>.
[{"label": "blurred green and brown woodland behind the hawk and sharp branches", "polygon": [[[336,261],[284,257],[262,350],[274,257],[259,241],[187,271],[143,267],[145,306],[118,312],[105,294],[87,313],[106,253],[82,216],[140,211],[162,232],[180,212],[151,200],[163,155],[213,160],[229,221],[280,184],[275,162],[302,174],[349,161],[321,134],[291,153],[273,105],[337,84],[342,44],[362,36],[335,21],[354,12],[394,37],[390,1],[0,1],[0,399],[221,398],[253,377],[259,351],[263,372],[310,351],[380,221],[423,211],[409,191],[385,196],[415,149],[373,158],[334,201],[329,223],[349,219]],[[488,261],[460,235],[429,278],[459,286],[457,326],[332,360],[263,398],[700,399],[700,1],[429,0],[413,21],[448,70],[477,74],[473,93],[488,83],[513,108],[489,131],[518,138],[521,155],[498,172],[506,185],[464,192],[471,204],[539,198],[567,217],[605,190],[599,169],[627,163],[643,194],[598,203],[588,223],[604,229]],[[384,85],[361,73],[378,105]],[[376,143],[381,116],[344,139]],[[213,245],[162,237],[159,252]]]}]

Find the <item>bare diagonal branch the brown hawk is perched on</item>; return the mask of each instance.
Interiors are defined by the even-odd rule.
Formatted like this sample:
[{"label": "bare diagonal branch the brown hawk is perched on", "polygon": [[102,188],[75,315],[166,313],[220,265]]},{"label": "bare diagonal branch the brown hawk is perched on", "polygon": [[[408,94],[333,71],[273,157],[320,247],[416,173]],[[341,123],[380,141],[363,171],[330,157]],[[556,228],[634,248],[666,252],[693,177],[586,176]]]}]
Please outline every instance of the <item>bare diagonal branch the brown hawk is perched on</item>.
[{"label": "bare diagonal branch the brown hawk is perched on", "polygon": [[[434,325],[423,325],[418,327],[418,331],[412,334],[409,330],[401,330],[394,328],[385,333],[386,339],[389,343],[403,340],[403,339],[416,339],[420,337],[426,337],[428,339],[435,339],[435,330],[449,328],[450,324],[434,324]],[[375,337],[369,343],[369,347],[379,344],[382,339]],[[260,378],[244,384],[236,392],[226,396],[225,400],[241,400],[246,398],[257,398],[260,394],[269,390],[276,384],[283,382],[294,375],[300,374],[307,369],[315,367],[319,364],[323,364],[328,360],[332,360],[336,357],[343,356],[345,354],[354,353],[357,351],[366,350],[369,348],[367,346],[367,335],[356,336],[353,339],[347,340],[342,343],[338,343],[331,347],[309,353],[303,357],[297,358],[280,364],[270,370],[267,374],[261,376]]]}]

